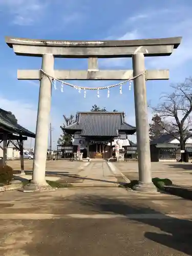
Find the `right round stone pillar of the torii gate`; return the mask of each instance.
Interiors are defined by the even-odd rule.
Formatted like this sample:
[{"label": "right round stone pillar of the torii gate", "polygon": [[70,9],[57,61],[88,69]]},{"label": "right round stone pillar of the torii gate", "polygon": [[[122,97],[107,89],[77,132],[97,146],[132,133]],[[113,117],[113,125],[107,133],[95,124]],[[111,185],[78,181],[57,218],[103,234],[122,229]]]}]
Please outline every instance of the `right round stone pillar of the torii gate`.
[{"label": "right round stone pillar of the torii gate", "polygon": [[136,190],[156,190],[152,183],[151,175],[151,155],[150,155],[150,137],[147,117],[147,100],[145,86],[145,64],[144,54],[136,53],[132,57],[134,79],[134,97],[135,97],[135,118],[137,129],[137,150],[139,167],[139,184],[134,188]]}]

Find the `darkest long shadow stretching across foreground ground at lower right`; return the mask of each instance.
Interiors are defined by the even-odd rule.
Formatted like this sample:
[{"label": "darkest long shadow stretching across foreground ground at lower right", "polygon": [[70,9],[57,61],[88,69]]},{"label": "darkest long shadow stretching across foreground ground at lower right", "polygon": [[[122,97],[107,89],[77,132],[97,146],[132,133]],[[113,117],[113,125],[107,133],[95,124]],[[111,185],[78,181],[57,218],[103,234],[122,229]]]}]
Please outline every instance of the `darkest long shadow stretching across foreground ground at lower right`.
[{"label": "darkest long shadow stretching across foreground ground at lower right", "polygon": [[[155,209],[144,205],[141,206],[140,203],[139,205],[132,203],[128,205],[121,200],[96,196],[87,199],[79,198],[78,202],[85,207],[94,209],[100,214],[129,215],[129,220],[131,219],[159,228],[161,231],[165,232],[165,234],[145,232],[144,237],[161,245],[192,255],[192,221],[168,217]],[[148,217],[142,218],[143,214],[147,214]],[[133,216],[130,217],[130,215]],[[141,216],[136,217],[137,215]]]}]

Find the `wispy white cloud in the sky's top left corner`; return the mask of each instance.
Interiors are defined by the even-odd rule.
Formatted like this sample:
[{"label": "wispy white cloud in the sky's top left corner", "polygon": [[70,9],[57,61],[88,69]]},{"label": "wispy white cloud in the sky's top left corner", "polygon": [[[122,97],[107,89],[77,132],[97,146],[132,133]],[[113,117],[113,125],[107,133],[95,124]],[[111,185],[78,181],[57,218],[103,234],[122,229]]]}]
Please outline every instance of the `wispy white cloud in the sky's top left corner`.
[{"label": "wispy white cloud in the sky's top left corner", "polygon": [[40,0],[0,0],[0,7],[6,8],[12,15],[12,23],[19,26],[28,26],[38,20],[46,2]]}]

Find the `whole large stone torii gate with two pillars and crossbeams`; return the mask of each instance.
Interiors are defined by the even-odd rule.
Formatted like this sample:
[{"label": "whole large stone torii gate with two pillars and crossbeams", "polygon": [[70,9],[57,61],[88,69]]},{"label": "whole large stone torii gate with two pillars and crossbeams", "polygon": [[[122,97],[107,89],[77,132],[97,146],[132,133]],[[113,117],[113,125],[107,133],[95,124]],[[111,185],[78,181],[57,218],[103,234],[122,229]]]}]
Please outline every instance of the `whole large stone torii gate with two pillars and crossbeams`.
[{"label": "whole large stone torii gate with two pillars and crossbeams", "polygon": [[[168,70],[145,70],[144,57],[168,56],[182,37],[65,41],[6,37],[16,55],[42,57],[41,70],[60,80],[127,80],[134,79],[135,116],[138,145],[139,184],[135,189],[154,191],[151,176],[150,139],[148,134],[146,80],[169,79]],[[88,58],[88,70],[54,70],[54,57]],[[132,57],[133,70],[99,70],[98,58]],[[18,70],[17,79],[40,80],[36,124],[33,177],[28,190],[48,188],[45,180],[49,135],[52,79],[39,70]],[[27,188],[26,188],[27,189]]]}]

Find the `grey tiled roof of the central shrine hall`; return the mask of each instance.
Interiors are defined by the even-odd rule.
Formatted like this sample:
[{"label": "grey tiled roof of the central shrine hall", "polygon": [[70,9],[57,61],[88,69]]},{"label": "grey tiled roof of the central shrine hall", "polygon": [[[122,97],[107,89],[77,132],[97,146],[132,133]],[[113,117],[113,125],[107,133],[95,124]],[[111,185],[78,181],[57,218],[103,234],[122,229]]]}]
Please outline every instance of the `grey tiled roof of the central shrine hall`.
[{"label": "grey tiled roof of the central shrine hall", "polygon": [[79,112],[76,122],[65,127],[66,132],[80,131],[81,136],[117,137],[119,131],[134,134],[136,127],[124,121],[123,112]]}]

